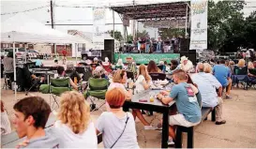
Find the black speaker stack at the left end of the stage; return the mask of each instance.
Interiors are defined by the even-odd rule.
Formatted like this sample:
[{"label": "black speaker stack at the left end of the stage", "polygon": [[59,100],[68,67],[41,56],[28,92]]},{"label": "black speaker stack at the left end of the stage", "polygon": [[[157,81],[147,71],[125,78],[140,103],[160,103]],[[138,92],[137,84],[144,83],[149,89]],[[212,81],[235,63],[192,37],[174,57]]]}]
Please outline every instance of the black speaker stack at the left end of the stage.
[{"label": "black speaker stack at the left end of the stage", "polygon": [[113,53],[114,53],[114,40],[105,39],[104,51],[101,51],[101,60],[105,61],[105,57],[108,57],[110,62],[113,63]]}]

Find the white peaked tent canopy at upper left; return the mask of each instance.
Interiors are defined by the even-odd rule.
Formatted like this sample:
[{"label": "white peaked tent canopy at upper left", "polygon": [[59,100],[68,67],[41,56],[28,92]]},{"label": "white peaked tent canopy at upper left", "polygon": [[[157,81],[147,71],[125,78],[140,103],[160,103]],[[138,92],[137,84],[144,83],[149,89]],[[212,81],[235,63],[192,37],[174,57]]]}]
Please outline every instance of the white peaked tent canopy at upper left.
[{"label": "white peaked tent canopy at upper left", "polygon": [[83,43],[83,38],[54,30],[24,14],[17,14],[1,24],[2,42]]}]

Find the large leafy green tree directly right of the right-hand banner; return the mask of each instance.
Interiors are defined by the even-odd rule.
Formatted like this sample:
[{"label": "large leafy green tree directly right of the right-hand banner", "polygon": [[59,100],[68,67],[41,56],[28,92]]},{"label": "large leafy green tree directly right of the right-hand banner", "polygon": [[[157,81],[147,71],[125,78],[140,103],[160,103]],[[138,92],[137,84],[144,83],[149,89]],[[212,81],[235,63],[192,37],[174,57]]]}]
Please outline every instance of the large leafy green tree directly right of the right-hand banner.
[{"label": "large leafy green tree directly right of the right-hand banner", "polygon": [[[227,49],[223,48],[226,47],[225,44],[234,41],[233,37],[244,37],[237,35],[239,32],[237,30],[241,31],[239,28],[244,22],[241,12],[244,5],[245,1],[238,0],[208,2],[208,49],[226,51]],[[237,22],[238,24],[236,24]],[[231,51],[233,50],[231,49]]]}]

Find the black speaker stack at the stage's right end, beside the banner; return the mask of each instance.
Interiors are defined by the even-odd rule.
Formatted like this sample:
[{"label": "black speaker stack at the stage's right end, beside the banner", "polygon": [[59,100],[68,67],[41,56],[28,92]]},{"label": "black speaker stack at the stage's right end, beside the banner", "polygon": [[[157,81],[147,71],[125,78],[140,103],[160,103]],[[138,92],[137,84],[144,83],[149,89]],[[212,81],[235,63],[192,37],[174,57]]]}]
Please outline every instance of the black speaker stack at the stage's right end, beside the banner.
[{"label": "black speaker stack at the stage's right end, beside the banner", "polygon": [[186,56],[193,63],[196,64],[196,51],[189,50],[190,38],[181,38],[180,39],[180,57]]}]

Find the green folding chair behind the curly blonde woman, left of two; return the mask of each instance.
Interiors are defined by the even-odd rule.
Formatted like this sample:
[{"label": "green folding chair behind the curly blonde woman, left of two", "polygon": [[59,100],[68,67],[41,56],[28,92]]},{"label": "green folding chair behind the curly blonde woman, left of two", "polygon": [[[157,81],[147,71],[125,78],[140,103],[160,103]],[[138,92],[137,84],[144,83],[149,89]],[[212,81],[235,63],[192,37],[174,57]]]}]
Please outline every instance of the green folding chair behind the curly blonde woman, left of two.
[{"label": "green folding chair behind the curly blonde woman, left of two", "polygon": [[[67,91],[71,91],[71,85],[69,82],[69,78],[64,78],[64,79],[51,79],[50,81],[50,105],[51,105],[51,96],[53,97],[53,106],[54,103],[57,104],[57,106],[59,107],[59,104],[56,100],[57,97],[59,97],[62,93],[67,92]],[[52,109],[53,109],[52,106]]]}]

